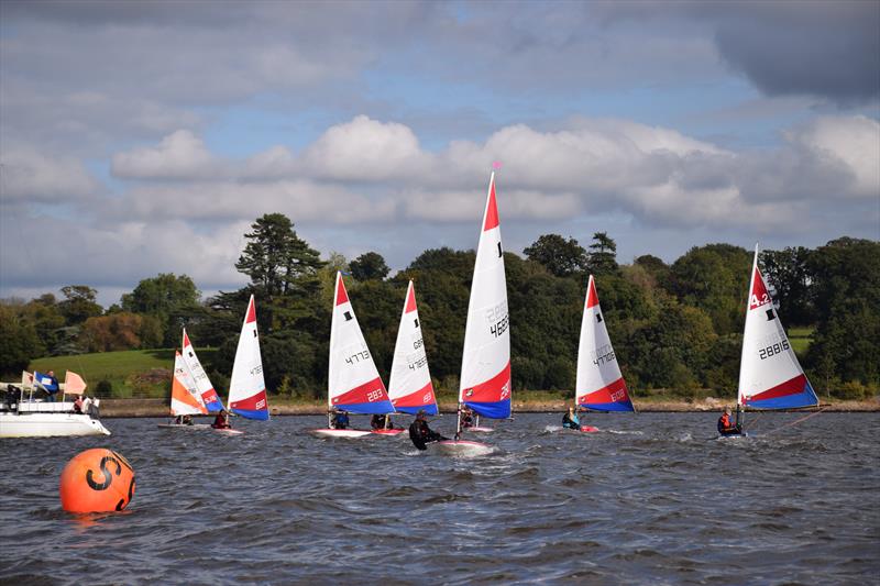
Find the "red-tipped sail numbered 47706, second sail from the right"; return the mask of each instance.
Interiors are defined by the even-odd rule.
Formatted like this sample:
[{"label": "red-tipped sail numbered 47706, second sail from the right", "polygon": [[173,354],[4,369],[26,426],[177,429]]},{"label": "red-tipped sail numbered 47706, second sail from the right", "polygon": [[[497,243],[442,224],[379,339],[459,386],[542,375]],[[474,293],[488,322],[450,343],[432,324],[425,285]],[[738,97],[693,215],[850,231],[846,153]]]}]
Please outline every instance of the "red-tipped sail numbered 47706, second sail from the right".
[{"label": "red-tipped sail numbered 47706, second sail from the right", "polygon": [[[580,407],[592,411],[635,411],[608,338],[593,275],[590,275],[586,287],[584,316],[581,321],[575,396]],[[594,432],[598,429],[581,425],[581,431]]]}]

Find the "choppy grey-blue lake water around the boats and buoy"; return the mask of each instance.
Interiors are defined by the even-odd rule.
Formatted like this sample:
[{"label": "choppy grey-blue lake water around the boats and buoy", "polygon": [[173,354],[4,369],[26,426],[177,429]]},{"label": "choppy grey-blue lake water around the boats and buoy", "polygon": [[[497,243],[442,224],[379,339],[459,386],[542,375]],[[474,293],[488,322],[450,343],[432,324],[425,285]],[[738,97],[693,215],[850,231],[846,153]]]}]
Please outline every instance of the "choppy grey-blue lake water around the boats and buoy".
[{"label": "choppy grey-blue lake water around the boats and buoy", "polygon": [[[880,414],[780,429],[803,417],[716,440],[713,413],[591,414],[603,431],[588,434],[519,414],[473,460],[405,434],[315,439],[320,417],[237,419],[238,436],[110,419],[110,438],[2,440],[0,583],[876,581]],[[62,510],[61,472],[89,447],[134,467],[127,511]]]}]

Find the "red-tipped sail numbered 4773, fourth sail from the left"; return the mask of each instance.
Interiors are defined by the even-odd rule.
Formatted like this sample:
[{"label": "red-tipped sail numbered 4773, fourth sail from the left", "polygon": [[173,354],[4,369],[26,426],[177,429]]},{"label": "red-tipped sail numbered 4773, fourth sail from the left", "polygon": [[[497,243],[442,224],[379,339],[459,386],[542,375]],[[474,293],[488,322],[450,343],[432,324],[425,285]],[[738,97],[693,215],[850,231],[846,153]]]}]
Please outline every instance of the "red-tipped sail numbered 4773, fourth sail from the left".
[{"label": "red-tipped sail numbered 4773, fourth sail from the left", "polygon": [[331,409],[353,413],[394,412],[339,272],[330,325],[328,387],[327,401]]}]

